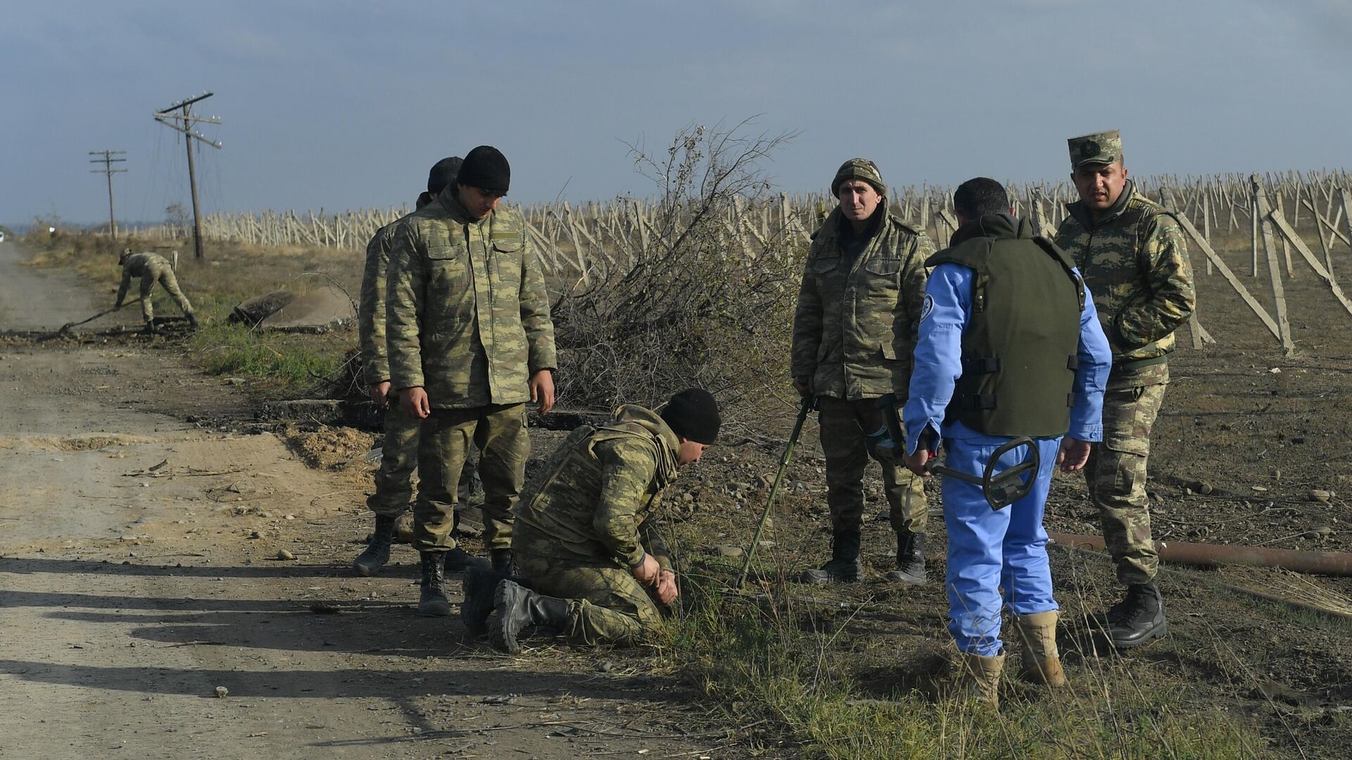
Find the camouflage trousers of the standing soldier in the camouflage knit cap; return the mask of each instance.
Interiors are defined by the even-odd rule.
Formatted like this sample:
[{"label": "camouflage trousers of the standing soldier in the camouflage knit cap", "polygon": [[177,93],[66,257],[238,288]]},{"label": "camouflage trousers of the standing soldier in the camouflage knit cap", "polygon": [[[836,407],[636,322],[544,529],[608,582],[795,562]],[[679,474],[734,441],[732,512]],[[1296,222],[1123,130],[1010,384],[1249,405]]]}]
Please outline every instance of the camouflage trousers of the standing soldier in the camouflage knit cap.
[{"label": "camouflage trousers of the standing soldier in the camouflage knit cap", "polygon": [[[864,523],[864,468],[868,467],[864,437],[883,426],[883,410],[877,408],[876,399],[846,402],[818,396],[817,406],[831,530],[859,530]],[[904,467],[882,467],[892,530],[925,533],[929,519],[925,483]]]}]

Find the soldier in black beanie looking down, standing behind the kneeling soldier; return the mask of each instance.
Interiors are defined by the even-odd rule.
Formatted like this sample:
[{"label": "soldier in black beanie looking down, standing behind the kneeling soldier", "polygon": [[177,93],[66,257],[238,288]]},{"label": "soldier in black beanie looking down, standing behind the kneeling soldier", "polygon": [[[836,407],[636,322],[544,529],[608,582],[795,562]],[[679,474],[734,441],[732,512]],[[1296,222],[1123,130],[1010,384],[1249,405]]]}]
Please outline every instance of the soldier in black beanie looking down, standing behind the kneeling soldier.
[{"label": "soldier in black beanie looking down, standing behind the kneeling soldier", "polygon": [[454,484],[481,452],[484,545],[511,568],[512,507],[526,479],[526,402],[554,404],[554,326],[539,258],[514,208],[499,208],[511,168],[498,149],[465,156],[456,192],[410,214],[391,245],[385,342],[391,387],[422,419],[414,546],[420,614],[449,615],[441,554],[456,546]]}]

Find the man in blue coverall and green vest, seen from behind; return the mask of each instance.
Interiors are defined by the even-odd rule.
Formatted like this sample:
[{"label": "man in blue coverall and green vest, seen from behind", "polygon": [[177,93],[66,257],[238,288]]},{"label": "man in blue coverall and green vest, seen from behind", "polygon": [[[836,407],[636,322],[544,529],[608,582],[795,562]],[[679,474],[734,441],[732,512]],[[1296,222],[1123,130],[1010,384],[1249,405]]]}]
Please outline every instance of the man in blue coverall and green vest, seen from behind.
[{"label": "man in blue coverall and green vest, seen from behind", "polygon": [[[953,210],[960,226],[950,246],[926,261],[933,270],[903,410],[906,467],[927,477],[940,435],[946,467],[977,476],[1013,437],[1030,437],[1037,446],[1033,488],[1007,507],[992,510],[980,485],[956,477],[942,483],[948,627],[969,694],[994,707],[1005,664],[1002,606],[1023,640],[1023,676],[1065,686],[1042,514],[1052,468],[1080,469],[1087,441],[1102,437],[1110,350],[1073,264],[1010,215],[999,183],[963,183]],[[1013,449],[1000,469],[1029,456]]]}]

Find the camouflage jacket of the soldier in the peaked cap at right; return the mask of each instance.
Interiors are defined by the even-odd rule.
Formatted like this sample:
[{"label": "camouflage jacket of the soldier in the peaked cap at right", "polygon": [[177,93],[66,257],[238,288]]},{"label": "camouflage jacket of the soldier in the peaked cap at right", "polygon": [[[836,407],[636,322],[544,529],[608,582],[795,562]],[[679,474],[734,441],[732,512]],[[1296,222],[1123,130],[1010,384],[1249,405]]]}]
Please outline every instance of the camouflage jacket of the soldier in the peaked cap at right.
[{"label": "camouflage jacket of the soldier in the peaked cap at right", "polygon": [[1168,358],[1174,330],[1192,314],[1197,296],[1183,229],[1134,184],[1098,220],[1083,201],[1067,210],[1056,245],[1075,260],[1094,293],[1113,346],[1109,387],[1142,384],[1132,377],[1159,376],[1148,368]]}]

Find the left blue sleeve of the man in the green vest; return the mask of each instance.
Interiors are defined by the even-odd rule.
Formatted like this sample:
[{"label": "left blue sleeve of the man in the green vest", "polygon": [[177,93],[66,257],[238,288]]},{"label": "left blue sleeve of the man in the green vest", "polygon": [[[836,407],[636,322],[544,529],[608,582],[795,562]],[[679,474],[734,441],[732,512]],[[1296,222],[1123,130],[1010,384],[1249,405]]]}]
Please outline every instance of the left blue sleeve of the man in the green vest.
[{"label": "left blue sleeve of the man in the green vest", "polygon": [[925,306],[915,339],[915,362],[902,421],[906,453],[914,454],[926,430],[940,433],[953,385],[963,375],[963,330],[972,312],[972,270],[940,264],[925,284]]}]

